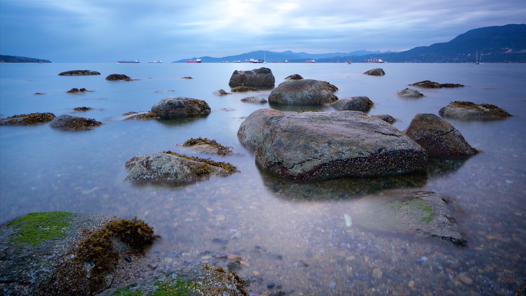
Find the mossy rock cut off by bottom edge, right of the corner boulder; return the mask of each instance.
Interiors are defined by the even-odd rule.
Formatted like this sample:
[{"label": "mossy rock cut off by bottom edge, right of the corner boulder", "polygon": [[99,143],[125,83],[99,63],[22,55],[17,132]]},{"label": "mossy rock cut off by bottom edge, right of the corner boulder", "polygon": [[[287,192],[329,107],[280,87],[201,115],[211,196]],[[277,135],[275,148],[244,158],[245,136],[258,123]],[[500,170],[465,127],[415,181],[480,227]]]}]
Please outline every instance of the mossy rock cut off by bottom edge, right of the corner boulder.
[{"label": "mossy rock cut off by bottom edge, right of the corner boulder", "polygon": [[246,296],[244,281],[235,272],[217,265],[202,263],[188,271],[176,271],[138,282],[133,285],[110,289],[99,296],[123,295],[224,295]]}]

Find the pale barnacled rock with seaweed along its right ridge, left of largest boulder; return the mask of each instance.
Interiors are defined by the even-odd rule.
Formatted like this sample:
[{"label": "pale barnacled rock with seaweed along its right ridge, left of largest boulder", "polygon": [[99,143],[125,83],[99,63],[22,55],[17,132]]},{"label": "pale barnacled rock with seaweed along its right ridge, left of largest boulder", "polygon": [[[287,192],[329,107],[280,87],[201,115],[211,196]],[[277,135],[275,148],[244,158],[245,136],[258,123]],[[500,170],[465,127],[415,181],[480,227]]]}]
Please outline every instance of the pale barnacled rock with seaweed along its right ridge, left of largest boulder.
[{"label": "pale barnacled rock with seaweed along its right ridge, left of largest boulder", "polygon": [[187,156],[171,151],[131,157],[126,162],[128,182],[183,184],[206,179],[211,175],[228,176],[237,172],[230,163]]}]

